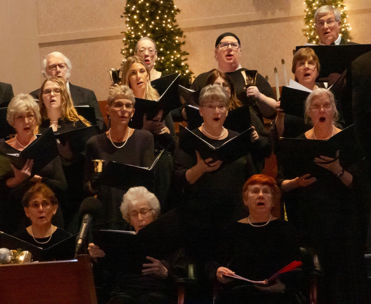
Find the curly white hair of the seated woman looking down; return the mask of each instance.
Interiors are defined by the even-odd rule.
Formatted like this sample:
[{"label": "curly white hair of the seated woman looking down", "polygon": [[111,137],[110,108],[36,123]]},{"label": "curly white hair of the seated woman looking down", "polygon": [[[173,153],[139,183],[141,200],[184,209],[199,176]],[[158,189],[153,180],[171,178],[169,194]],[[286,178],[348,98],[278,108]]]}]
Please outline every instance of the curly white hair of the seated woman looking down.
[{"label": "curly white hair of the seated woman looking down", "polygon": [[127,193],[124,194],[124,197],[122,197],[122,203],[120,205],[120,211],[125,221],[128,223],[130,222],[128,216],[129,204],[135,206],[143,201],[150,205],[150,208],[152,209],[150,212],[153,213],[154,219],[160,215],[160,202],[158,201],[157,197],[145,187],[132,187]]}]

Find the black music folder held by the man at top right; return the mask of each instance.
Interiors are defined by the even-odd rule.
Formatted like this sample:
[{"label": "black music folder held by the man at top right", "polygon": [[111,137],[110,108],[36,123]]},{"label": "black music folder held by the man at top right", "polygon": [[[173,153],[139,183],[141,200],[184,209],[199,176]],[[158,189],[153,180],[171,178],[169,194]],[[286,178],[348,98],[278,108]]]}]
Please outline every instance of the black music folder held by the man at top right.
[{"label": "black music folder held by the man at top right", "polygon": [[296,46],[296,50],[310,47],[318,56],[321,71],[318,78],[326,78],[331,73],[343,73],[362,54],[371,51],[371,44],[347,44],[341,46]]}]

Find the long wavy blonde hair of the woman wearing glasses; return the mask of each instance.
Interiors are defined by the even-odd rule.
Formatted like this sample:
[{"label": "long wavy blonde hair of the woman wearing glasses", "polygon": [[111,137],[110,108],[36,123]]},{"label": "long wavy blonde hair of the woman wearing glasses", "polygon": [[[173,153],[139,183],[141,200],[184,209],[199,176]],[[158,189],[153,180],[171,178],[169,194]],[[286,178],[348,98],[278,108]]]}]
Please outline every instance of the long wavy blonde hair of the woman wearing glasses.
[{"label": "long wavy blonde hair of the woman wearing glasses", "polygon": [[60,114],[62,116],[62,119],[73,121],[74,124],[76,123],[76,121],[81,120],[82,123],[85,125],[85,127],[90,127],[91,123],[89,123],[88,120],[86,120],[84,117],[79,115],[75,107],[73,107],[73,101],[67,91],[65,81],[62,78],[58,78],[54,76],[46,78],[40,88],[39,107],[40,107],[40,114],[41,114],[42,120],[48,119],[46,107],[45,107],[45,104],[43,103],[43,91],[44,91],[44,87],[47,81],[52,81],[53,83],[55,83],[57,86],[60,87],[60,90],[61,90],[60,92],[60,103],[61,103]]}]

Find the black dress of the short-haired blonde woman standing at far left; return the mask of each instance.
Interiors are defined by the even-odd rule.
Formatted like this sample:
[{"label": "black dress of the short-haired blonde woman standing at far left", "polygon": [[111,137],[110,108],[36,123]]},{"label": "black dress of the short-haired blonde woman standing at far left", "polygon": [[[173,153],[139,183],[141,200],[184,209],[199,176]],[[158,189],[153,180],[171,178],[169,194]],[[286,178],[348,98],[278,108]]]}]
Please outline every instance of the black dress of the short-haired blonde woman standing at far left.
[{"label": "black dress of the short-haired blonde woman standing at far left", "polygon": [[[19,153],[19,151],[9,146],[5,141],[1,141],[0,153],[14,154]],[[42,168],[37,175],[42,177],[42,183],[52,189],[58,201],[62,202],[66,195],[67,183],[59,156]],[[24,193],[35,184],[30,180],[26,180],[16,187],[10,188],[6,185],[6,180],[10,177],[14,177],[13,171],[0,179],[0,230],[7,234],[13,234],[20,228],[29,226],[21,202]],[[52,219],[52,224],[64,227],[60,205]]]}]

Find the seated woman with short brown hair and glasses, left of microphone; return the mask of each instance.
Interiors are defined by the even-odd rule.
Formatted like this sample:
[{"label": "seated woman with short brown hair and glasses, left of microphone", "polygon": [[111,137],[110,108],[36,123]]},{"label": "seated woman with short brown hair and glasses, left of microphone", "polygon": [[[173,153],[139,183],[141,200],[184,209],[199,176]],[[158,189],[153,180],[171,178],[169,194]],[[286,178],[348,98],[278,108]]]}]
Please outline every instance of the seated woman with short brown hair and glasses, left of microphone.
[{"label": "seated woman with short brown hair and glasses, left of microphone", "polygon": [[22,205],[32,224],[18,231],[14,237],[45,249],[71,236],[67,231],[52,224],[52,217],[58,210],[58,200],[45,184],[32,186],[24,194]]}]

